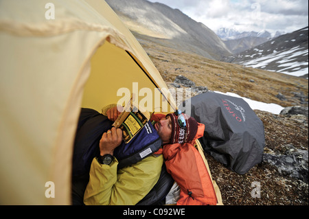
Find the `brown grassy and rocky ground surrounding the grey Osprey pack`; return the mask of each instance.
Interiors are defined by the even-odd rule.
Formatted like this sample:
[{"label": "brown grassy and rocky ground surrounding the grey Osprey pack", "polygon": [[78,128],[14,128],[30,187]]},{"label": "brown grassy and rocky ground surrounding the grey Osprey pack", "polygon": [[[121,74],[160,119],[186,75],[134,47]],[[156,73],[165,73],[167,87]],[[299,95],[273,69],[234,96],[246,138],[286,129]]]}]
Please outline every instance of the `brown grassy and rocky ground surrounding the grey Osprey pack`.
[{"label": "brown grassy and rocky ground surrounding the grey Osprey pack", "polygon": [[[185,98],[229,91],[260,102],[301,106],[287,108],[289,113],[283,115],[255,111],[264,124],[266,146],[262,163],[247,174],[236,174],[205,156],[225,205],[308,205],[308,80],[210,60],[146,38],[138,40],[171,91],[175,86],[191,88],[192,92],[183,93]],[[260,196],[255,194],[257,187]]]}]

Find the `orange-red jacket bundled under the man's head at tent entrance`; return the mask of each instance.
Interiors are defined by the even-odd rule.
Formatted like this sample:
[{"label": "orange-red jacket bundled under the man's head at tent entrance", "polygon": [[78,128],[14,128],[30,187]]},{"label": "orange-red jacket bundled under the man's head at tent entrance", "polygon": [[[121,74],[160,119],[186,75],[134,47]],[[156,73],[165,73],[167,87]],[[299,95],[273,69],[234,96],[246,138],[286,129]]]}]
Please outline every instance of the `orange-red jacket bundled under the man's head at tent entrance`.
[{"label": "orange-red jacket bundled under the man's head at tent entrance", "polygon": [[[159,116],[158,116],[159,117]],[[166,169],[181,188],[177,205],[216,205],[217,198],[201,154],[193,146],[203,137],[205,126],[198,124],[196,137],[190,143],[163,146]]]}]

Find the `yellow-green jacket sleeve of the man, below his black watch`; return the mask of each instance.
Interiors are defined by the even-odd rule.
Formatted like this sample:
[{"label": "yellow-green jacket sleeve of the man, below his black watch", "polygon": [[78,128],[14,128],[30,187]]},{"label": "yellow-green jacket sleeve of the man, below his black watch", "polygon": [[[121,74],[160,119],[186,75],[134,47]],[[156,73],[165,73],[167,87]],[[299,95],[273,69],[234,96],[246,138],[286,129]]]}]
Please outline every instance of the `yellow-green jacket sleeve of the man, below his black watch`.
[{"label": "yellow-green jacket sleeve of the man, below his black watch", "polygon": [[137,204],[159,180],[162,164],[162,155],[152,155],[135,165],[117,170],[117,159],[111,165],[102,165],[93,159],[84,204]]}]

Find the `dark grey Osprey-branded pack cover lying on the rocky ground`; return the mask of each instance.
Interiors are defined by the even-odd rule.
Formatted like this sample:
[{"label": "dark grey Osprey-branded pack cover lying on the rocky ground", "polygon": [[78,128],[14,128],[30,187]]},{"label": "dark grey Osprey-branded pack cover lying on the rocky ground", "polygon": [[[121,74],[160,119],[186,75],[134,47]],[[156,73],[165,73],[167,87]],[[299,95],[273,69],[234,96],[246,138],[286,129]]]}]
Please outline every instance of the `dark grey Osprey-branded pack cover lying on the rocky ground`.
[{"label": "dark grey Osprey-branded pack cover lying on the rocky ground", "polygon": [[262,162],[264,125],[241,98],[207,92],[179,108],[205,124],[203,149],[230,170],[245,174]]}]

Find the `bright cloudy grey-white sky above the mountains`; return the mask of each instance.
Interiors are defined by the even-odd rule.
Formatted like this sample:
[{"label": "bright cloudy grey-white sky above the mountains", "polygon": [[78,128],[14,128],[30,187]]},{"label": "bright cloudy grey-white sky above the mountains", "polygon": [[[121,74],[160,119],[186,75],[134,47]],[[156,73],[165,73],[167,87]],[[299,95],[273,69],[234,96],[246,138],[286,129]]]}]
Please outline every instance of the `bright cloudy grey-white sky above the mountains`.
[{"label": "bright cloudy grey-white sky above the mountains", "polygon": [[308,0],[148,0],[177,8],[211,30],[220,27],[272,34],[308,25]]}]

